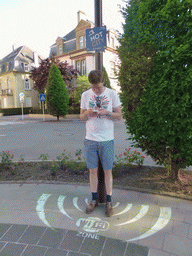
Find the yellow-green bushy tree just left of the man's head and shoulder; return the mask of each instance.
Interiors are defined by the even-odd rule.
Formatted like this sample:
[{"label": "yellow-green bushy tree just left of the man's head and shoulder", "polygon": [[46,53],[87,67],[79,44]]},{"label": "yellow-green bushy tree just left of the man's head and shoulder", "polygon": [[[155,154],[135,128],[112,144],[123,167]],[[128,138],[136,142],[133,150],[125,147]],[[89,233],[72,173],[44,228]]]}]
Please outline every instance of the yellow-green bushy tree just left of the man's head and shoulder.
[{"label": "yellow-green bushy tree just left of the man's head and shoulder", "polygon": [[75,81],[74,90],[69,96],[69,112],[80,113],[81,94],[90,88],[91,86],[87,76],[78,76]]}]

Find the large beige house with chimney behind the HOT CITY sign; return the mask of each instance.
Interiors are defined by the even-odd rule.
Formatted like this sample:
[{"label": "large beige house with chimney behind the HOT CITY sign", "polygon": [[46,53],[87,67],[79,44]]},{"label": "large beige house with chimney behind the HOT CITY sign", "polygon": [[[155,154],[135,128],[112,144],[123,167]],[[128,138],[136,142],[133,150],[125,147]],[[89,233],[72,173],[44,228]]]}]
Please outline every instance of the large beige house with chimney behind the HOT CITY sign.
[{"label": "large beige house with chimney behind the HOT CITY sign", "polygon": [[[86,15],[77,13],[78,24],[64,37],[58,37],[55,44],[50,47],[49,57],[55,57],[59,61],[67,61],[80,75],[89,74],[95,69],[95,52],[86,51],[86,29],[93,28],[93,22],[86,19]],[[103,53],[103,66],[105,67],[111,87],[119,91],[115,70],[119,64],[116,47],[118,46],[118,34],[115,30],[107,31],[107,47]]]}]

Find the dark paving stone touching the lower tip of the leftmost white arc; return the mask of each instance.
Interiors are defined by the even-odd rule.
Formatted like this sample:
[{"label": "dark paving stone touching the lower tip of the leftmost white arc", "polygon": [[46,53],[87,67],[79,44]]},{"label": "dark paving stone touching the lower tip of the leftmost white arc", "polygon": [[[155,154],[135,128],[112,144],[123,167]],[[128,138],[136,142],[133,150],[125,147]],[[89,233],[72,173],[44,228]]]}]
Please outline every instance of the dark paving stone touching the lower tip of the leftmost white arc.
[{"label": "dark paving stone touching the lower tip of the leftmost white arc", "polygon": [[63,240],[65,233],[66,230],[52,230],[51,228],[48,228],[38,242],[38,245],[57,248]]}]

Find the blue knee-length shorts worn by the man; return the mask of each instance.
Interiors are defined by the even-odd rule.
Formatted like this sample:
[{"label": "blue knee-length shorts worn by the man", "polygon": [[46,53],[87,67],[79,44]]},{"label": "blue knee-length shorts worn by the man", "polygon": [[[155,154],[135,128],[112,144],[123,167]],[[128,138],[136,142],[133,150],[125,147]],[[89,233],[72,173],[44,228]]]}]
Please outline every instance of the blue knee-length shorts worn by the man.
[{"label": "blue knee-length shorts worn by the man", "polygon": [[88,169],[98,167],[99,158],[104,170],[112,170],[114,161],[114,140],[109,141],[84,141],[84,157]]}]

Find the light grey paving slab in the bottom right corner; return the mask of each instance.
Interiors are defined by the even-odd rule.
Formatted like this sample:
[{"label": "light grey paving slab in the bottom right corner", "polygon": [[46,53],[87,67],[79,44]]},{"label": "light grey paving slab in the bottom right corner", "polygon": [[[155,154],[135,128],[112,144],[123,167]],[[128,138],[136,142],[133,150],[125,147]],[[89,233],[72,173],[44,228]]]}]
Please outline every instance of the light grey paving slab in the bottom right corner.
[{"label": "light grey paving slab in the bottom right corner", "polygon": [[165,236],[163,250],[182,256],[192,255],[192,240],[167,234]]}]

